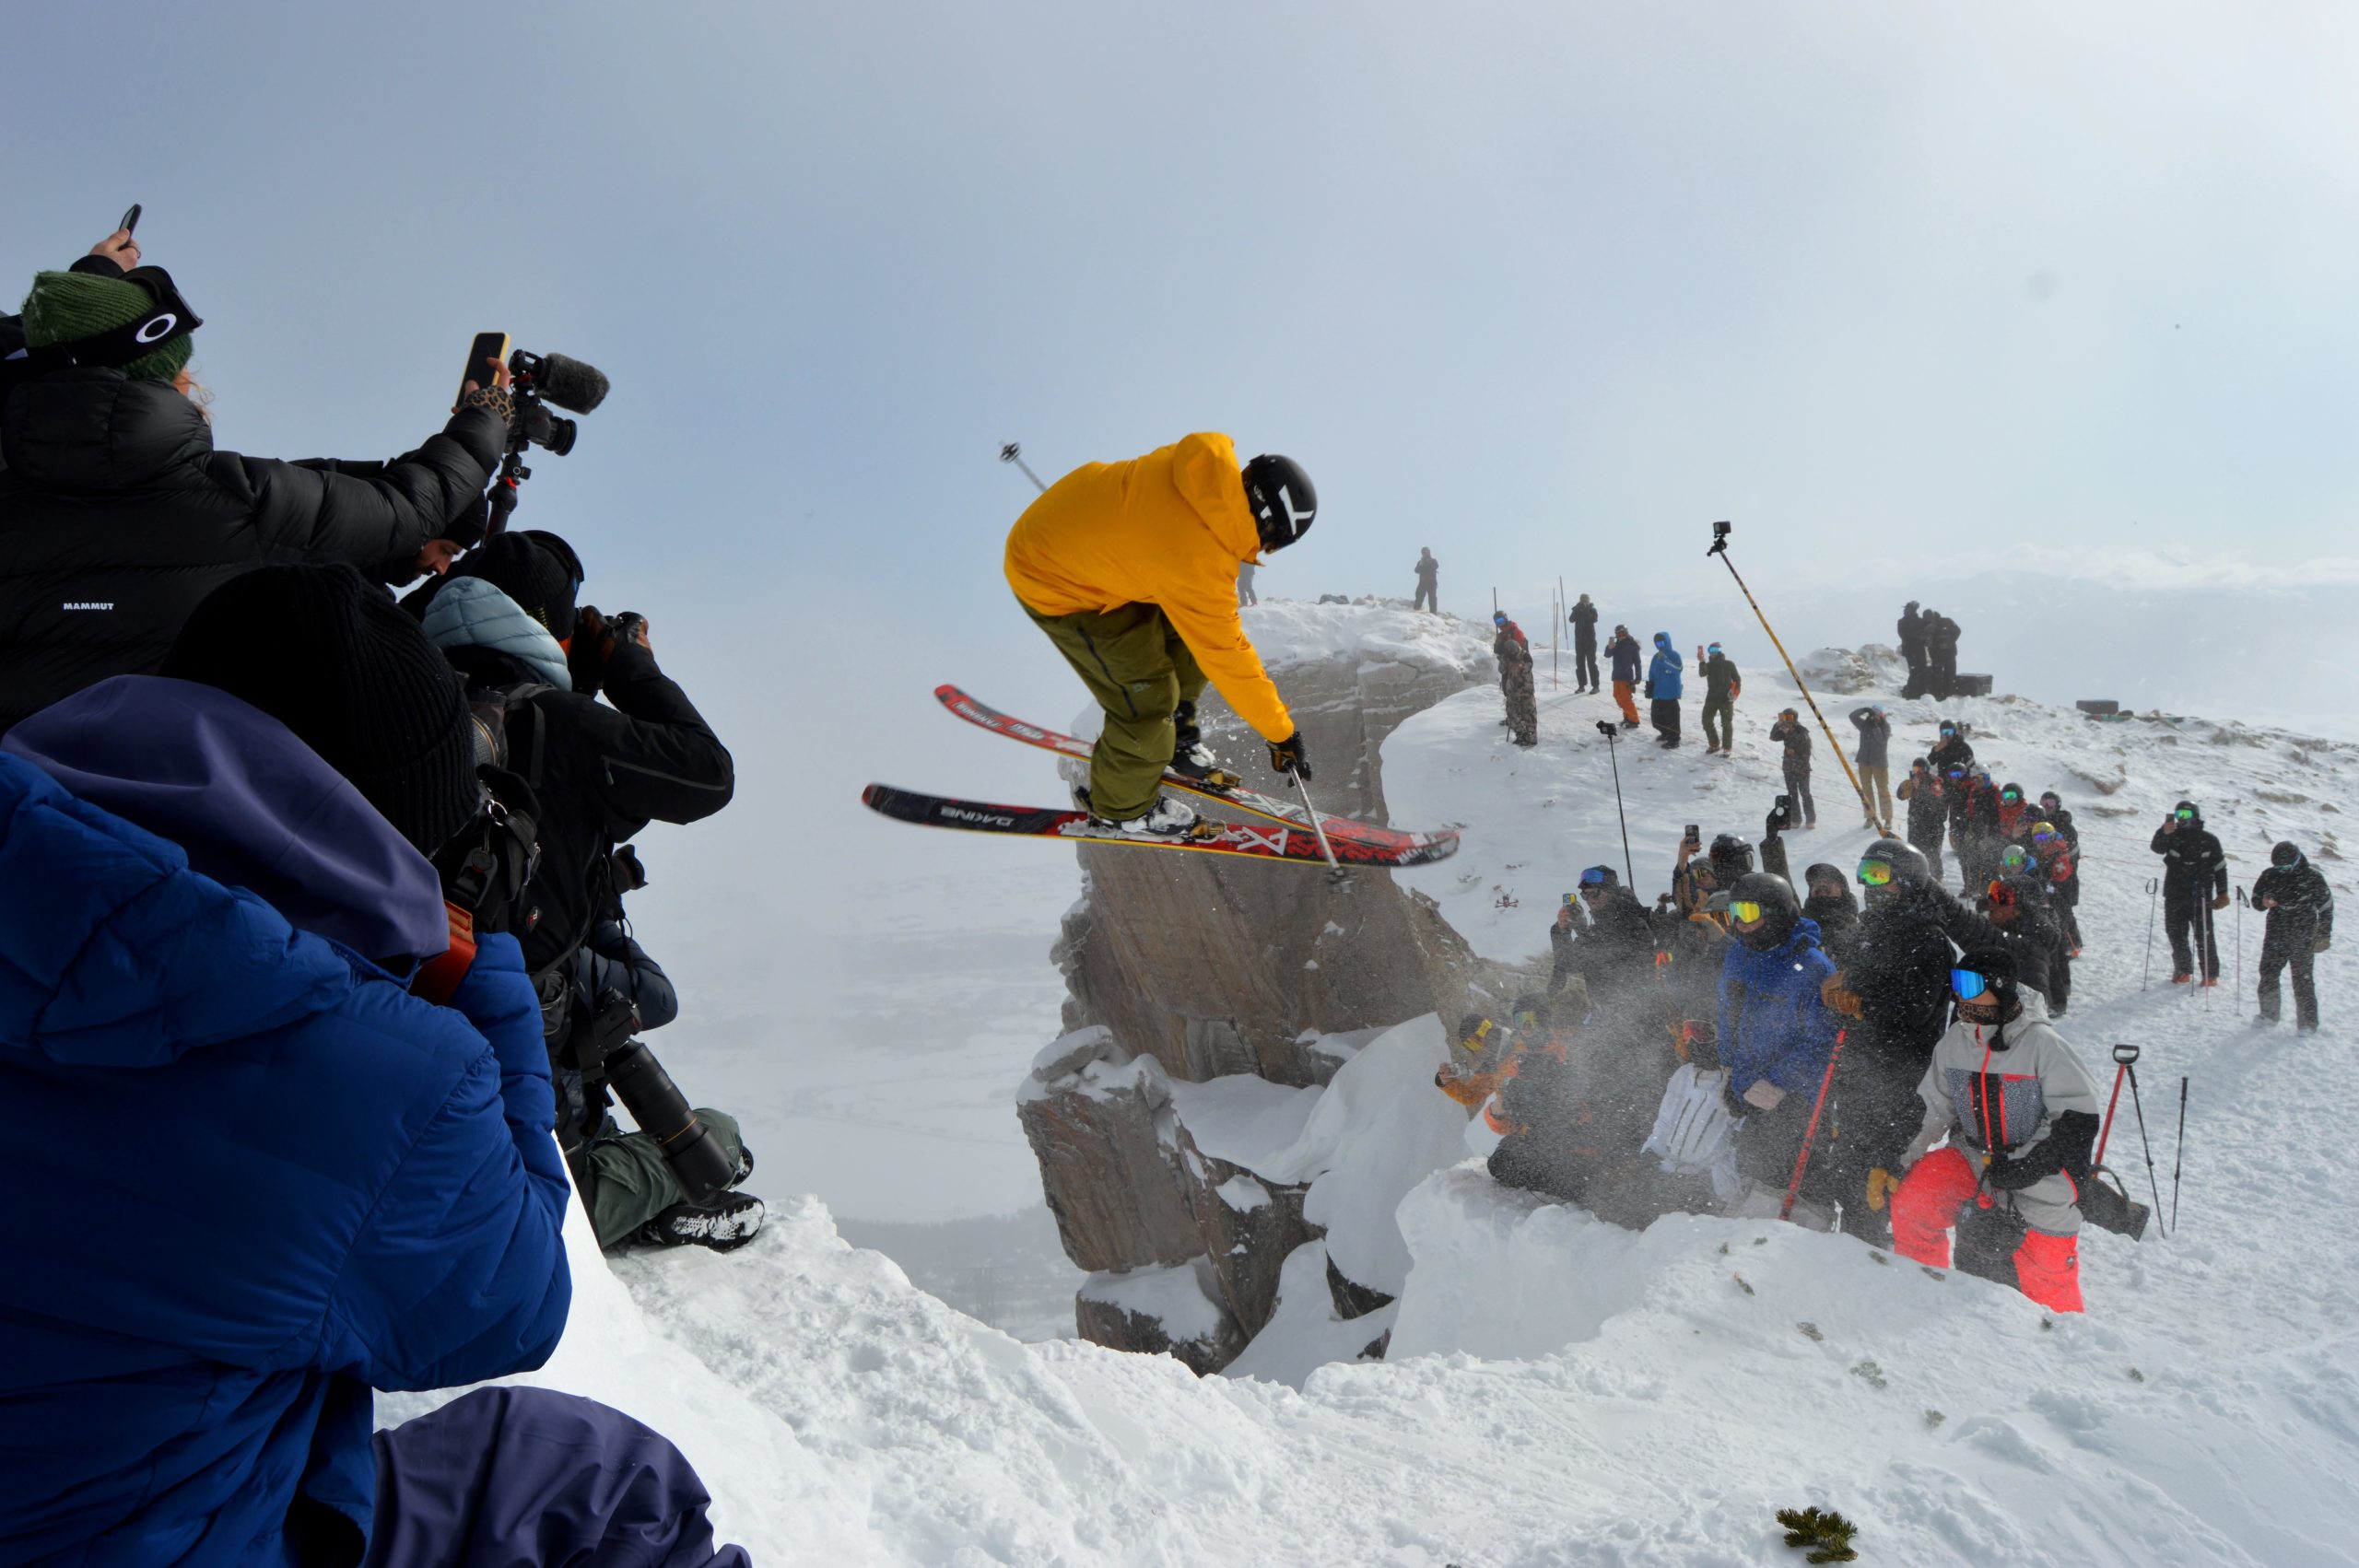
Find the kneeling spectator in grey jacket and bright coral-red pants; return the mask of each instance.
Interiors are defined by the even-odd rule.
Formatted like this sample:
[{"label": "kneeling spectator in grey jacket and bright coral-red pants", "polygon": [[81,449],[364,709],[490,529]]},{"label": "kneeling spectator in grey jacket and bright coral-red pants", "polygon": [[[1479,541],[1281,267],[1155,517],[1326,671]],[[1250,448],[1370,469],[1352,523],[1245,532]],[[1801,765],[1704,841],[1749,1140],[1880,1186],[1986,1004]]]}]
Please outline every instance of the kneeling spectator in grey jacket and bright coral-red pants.
[{"label": "kneeling spectator in grey jacket and bright coral-red pants", "polygon": [[[1918,1082],[1925,1125],[1897,1184],[1868,1172],[1868,1205],[1890,1193],[1892,1247],[1949,1269],[1949,1233],[1967,1205],[2024,1226],[2015,1283],[2050,1311],[2081,1311],[2081,1184],[2097,1141],[2097,1085],[2048,1023],[2045,1000],[2015,983],[2003,948],[1951,969],[1958,1019]],[[1949,1146],[1932,1151],[1949,1134]]]}]

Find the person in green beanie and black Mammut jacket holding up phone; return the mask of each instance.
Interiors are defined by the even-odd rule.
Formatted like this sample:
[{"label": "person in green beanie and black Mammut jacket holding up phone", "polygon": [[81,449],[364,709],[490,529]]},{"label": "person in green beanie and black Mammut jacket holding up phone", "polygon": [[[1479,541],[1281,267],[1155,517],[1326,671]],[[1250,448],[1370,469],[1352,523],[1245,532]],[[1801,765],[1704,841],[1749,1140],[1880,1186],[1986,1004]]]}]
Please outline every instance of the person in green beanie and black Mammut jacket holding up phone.
[{"label": "person in green beanie and black Mammut jacket holding up phone", "polygon": [[205,594],[257,566],[441,571],[481,538],[512,408],[486,365],[392,462],[217,450],[189,375],[198,314],[132,238],[137,207],[0,330],[0,729],[149,674]]}]

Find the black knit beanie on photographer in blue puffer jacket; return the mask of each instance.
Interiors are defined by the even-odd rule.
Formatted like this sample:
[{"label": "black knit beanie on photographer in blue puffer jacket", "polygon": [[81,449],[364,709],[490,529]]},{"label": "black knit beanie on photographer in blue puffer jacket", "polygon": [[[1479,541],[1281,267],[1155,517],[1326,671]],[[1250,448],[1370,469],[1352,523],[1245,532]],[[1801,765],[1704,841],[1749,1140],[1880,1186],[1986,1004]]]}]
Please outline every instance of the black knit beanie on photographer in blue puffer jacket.
[{"label": "black knit beanie on photographer in blue puffer jacket", "polygon": [[477,811],[474,726],[418,622],[349,566],[264,566],[212,589],[160,674],[271,714],[434,854]]}]

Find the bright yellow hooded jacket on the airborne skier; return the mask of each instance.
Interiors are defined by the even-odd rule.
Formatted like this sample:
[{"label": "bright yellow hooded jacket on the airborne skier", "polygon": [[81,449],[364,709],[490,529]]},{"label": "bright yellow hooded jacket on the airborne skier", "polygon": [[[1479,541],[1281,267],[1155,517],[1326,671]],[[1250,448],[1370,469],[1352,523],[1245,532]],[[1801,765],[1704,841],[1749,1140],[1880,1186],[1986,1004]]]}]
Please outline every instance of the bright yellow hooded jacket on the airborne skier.
[{"label": "bright yellow hooded jacket on the airborne skier", "polygon": [[1236,443],[1201,431],[1052,483],[1007,531],[1007,587],[1043,615],[1158,606],[1236,717],[1286,740],[1295,719],[1236,615],[1236,566],[1260,554]]}]

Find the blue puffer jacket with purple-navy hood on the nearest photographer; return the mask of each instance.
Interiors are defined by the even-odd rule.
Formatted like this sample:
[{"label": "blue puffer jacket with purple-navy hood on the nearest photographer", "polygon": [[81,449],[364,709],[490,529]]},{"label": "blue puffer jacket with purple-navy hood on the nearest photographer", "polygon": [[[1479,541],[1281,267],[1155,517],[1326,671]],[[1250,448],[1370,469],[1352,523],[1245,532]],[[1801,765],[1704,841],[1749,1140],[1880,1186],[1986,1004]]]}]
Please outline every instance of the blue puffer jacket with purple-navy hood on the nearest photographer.
[{"label": "blue puffer jacket with purple-navy hood on the nearest photographer", "polygon": [[524,957],[408,995],[432,868],[226,693],[118,677],[0,747],[0,1561],[359,1561],[370,1386],[564,1330]]}]

